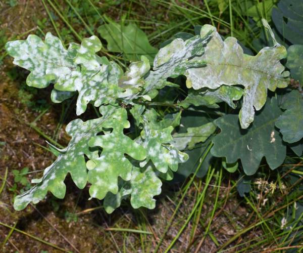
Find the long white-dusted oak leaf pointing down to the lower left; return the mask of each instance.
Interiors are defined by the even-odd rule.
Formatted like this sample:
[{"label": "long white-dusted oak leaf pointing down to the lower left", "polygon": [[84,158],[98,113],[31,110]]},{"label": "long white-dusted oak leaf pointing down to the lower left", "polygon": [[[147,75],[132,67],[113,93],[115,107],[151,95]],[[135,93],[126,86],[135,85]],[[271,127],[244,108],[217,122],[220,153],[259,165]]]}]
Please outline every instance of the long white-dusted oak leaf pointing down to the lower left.
[{"label": "long white-dusted oak leaf pointing down to the lower left", "polygon": [[58,150],[60,155],[45,169],[42,178],[32,181],[36,183],[33,188],[15,198],[15,209],[21,210],[31,201],[39,202],[47,191],[51,191],[58,198],[63,198],[66,190],[64,179],[68,173],[80,189],[84,188],[87,182],[84,154],[89,158],[95,158],[97,155],[97,152],[89,150],[88,141],[102,131],[102,124],[107,117],[109,116],[85,122],[81,119],[71,121],[66,127],[66,132],[72,136],[68,147]]}]

